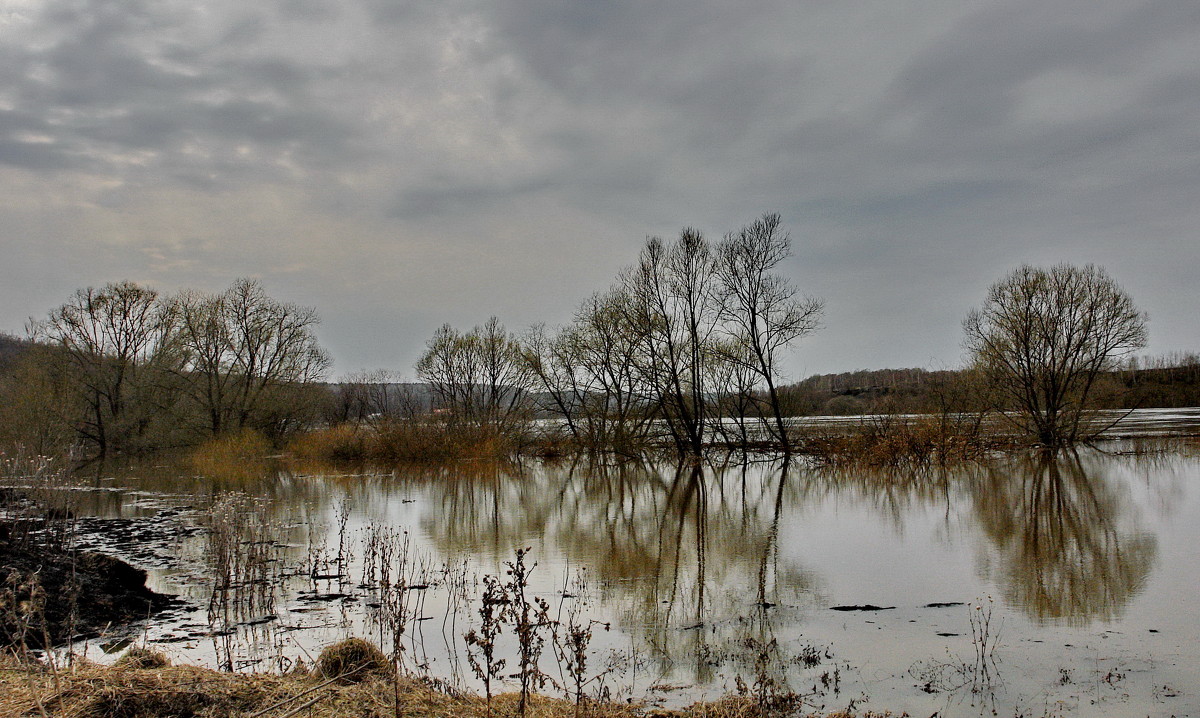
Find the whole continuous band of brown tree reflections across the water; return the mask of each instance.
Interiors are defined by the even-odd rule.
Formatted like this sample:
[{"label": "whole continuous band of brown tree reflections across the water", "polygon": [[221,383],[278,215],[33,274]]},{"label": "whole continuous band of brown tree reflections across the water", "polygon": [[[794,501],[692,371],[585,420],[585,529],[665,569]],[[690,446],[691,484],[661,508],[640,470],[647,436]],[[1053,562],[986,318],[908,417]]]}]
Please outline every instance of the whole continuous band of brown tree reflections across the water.
[{"label": "whole continuous band of brown tree reflections across the water", "polygon": [[[781,556],[778,537],[781,523],[830,501],[869,507],[901,537],[908,522],[928,525],[930,509],[949,540],[955,522],[974,526],[991,546],[977,560],[979,573],[1037,622],[1115,620],[1146,584],[1157,542],[1130,510],[1128,477],[1108,474],[1132,466],[1153,491],[1175,496],[1180,481],[1162,477],[1176,475],[1181,459],[1160,450],[1123,461],[1088,456],[1085,462],[1072,451],[1031,453],[954,469],[877,471],[580,461],[353,474],[276,465],[202,475],[194,465],[180,473],[178,465],[162,463],[125,468],[121,481],[136,477],[139,489],[155,486],[197,504],[226,491],[272,499],[275,520],[307,526],[310,543],[312,527],[331,523],[335,503],[347,501],[361,523],[414,519],[418,526],[407,527],[444,558],[499,568],[515,549],[534,546],[539,561],[559,570],[586,566],[604,600],[620,604],[623,621],[667,652],[671,632],[745,617],[756,606],[818,605],[826,581],[805,566],[802,548]],[[97,469],[89,483],[110,486],[113,473]],[[136,493],[97,491],[82,508],[137,515]],[[408,503],[420,510],[400,510]],[[158,504],[145,505],[152,511]]]}]

